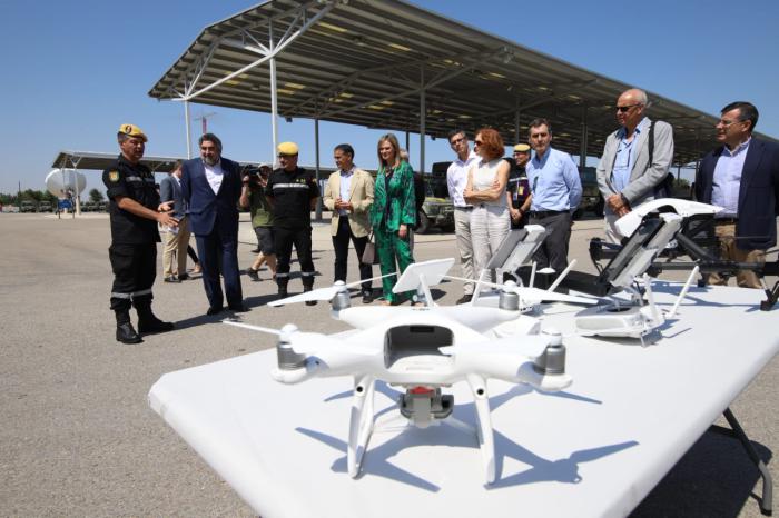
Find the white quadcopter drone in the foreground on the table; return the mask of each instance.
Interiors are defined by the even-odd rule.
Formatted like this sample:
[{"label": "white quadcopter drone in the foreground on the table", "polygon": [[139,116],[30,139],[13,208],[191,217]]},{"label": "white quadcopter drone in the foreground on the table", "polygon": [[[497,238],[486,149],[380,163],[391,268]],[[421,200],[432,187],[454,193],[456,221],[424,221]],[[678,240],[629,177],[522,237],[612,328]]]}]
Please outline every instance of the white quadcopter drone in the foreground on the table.
[{"label": "white quadcopter drone in the foreground on the table", "polygon": [[[276,305],[331,297],[333,317],[356,329],[331,337],[303,332],[287,325],[280,330],[226,321],[270,332],[277,342],[278,367],[272,372],[283,383],[299,383],[316,377],[349,376],[354,379],[347,467],[357,477],[374,431],[374,394],[377,380],[405,389],[398,409],[407,424],[427,427],[432,422],[462,422],[450,414],[452,396],[441,389],[464,381],[474,398],[476,435],[482,451],[486,484],[495,480],[495,452],[490,415],[487,379],[527,383],[543,391],[571,385],[565,373],[565,348],[560,333],[539,333],[538,320],[523,316],[519,296],[504,290],[500,308],[469,305],[441,307],[432,302],[430,283],[441,281],[454,259],[411,265],[395,290],[416,288],[426,297],[421,307],[349,307],[347,285],[323,288],[277,301]],[[522,320],[527,332],[497,338],[493,329]],[[454,421],[457,421],[455,425]]]}]

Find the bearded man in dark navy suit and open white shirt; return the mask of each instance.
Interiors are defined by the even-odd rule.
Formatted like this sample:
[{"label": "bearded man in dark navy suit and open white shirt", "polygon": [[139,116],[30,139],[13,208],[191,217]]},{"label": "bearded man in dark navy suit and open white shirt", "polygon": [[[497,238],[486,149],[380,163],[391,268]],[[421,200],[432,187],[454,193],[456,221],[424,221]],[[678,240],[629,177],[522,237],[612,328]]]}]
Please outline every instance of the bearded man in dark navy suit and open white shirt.
[{"label": "bearded man in dark navy suit and open white shirt", "polygon": [[225,279],[227,306],[247,311],[238,271],[238,165],[221,157],[221,141],[214,133],[199,139],[200,158],[184,162],[181,192],[203,268],[203,285],[208,297],[207,315],[224,309],[219,275]]}]

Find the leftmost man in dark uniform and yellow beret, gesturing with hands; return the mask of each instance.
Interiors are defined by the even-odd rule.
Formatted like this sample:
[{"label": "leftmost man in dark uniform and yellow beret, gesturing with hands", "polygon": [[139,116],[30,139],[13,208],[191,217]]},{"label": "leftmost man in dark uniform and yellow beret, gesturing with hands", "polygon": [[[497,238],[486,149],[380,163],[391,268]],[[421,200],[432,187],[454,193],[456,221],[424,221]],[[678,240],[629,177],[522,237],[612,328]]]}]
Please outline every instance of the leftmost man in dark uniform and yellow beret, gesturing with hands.
[{"label": "leftmost man in dark uniform and yellow beret, gesturing with hands", "polygon": [[[121,124],[117,133],[121,155],[102,172],[110,200],[111,247],[108,256],[114,270],[111,309],[116,315],[116,339],[138,343],[140,333],[174,328],[151,312],[151,286],[157,275],[157,223],[176,227],[178,221],[168,203],[159,202],[155,177],[142,163],[146,135],[134,124]],[[130,306],[138,312],[138,332],[130,322]]]}]

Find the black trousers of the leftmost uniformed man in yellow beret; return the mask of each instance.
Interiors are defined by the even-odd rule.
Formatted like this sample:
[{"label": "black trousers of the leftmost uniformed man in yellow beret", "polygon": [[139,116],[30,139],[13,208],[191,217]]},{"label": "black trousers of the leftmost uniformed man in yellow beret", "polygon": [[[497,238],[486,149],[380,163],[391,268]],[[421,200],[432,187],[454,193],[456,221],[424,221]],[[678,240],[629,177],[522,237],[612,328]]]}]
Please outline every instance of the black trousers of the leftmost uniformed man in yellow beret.
[{"label": "black trousers of the leftmost uniformed man in yellow beret", "polygon": [[157,243],[112,243],[108,258],[114,270],[111,309],[128,311],[151,305],[151,286],[157,277]]}]

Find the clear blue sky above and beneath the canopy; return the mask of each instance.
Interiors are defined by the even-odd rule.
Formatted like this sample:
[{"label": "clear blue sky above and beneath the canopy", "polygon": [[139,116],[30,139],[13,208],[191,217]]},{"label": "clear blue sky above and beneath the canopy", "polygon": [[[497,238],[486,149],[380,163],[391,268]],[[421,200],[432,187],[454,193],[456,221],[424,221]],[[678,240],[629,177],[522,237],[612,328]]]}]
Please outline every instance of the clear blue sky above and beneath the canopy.
[{"label": "clear blue sky above and beneath the canopy", "polygon": [[[779,137],[776,0],[415,3],[708,113],[733,100],[751,101],[760,110],[758,130]],[[185,156],[181,104],[147,92],[204,27],[254,4],[0,0],[0,191],[16,192],[18,181],[22,189],[43,189],[59,150],[116,152],[122,122],[149,135],[147,155]],[[203,111],[217,112],[209,129],[225,142],[225,156],[270,158],[269,116],[193,104],[193,117]],[[313,135],[312,121],[279,122],[279,138],[302,145],[303,163],[314,163]],[[349,141],[357,163],[375,167],[378,135],[322,123],[323,165],[329,165],[333,146]],[[412,165],[417,143],[412,136]],[[450,158],[445,141],[428,141],[428,165]],[[85,172],[87,189],[101,187],[97,172]]]}]

